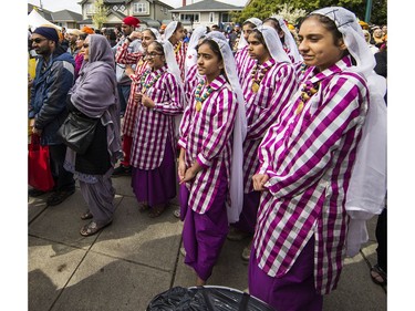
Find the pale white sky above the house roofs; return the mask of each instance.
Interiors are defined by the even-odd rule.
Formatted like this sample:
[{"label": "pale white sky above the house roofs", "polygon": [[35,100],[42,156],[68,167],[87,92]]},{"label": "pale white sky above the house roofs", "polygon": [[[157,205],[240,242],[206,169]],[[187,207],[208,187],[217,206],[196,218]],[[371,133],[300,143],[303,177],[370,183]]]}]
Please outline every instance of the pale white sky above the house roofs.
[{"label": "pale white sky above the house roofs", "polygon": [[[181,0],[160,0],[162,2],[172,6],[173,8],[180,8]],[[201,0],[187,0],[187,4],[196,3]],[[56,12],[61,10],[70,10],[76,13],[81,13],[81,6],[77,2],[81,0],[29,0],[29,3],[40,7],[40,2],[42,2],[43,9]],[[232,6],[241,6],[240,3],[245,3],[246,0],[221,0],[224,3],[232,4]]]}]

